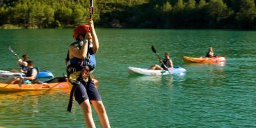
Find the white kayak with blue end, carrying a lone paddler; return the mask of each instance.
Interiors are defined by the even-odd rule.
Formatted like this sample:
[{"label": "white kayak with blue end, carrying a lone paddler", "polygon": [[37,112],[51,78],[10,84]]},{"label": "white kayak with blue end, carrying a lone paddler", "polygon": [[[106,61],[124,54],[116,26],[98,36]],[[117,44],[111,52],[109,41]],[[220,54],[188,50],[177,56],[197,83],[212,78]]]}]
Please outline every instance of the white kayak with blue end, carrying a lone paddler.
[{"label": "white kayak with blue end, carrying a lone paddler", "polygon": [[128,67],[128,72],[130,74],[141,74],[147,76],[162,76],[162,75],[182,75],[187,70],[182,67],[174,67],[172,70],[150,70],[148,68],[137,68],[137,67]]}]

